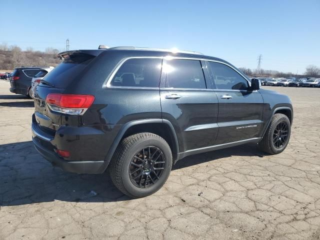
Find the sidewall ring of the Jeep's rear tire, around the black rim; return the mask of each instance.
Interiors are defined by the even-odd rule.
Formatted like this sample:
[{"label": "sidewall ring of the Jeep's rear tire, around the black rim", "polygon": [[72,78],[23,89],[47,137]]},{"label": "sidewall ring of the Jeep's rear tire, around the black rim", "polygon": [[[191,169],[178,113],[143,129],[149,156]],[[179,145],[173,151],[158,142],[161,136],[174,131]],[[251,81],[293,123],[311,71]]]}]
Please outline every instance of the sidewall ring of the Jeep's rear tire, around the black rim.
[{"label": "sidewall ring of the Jeep's rear tire, around the black rim", "polygon": [[[133,156],[140,151],[142,148],[146,146],[155,146],[159,148],[163,155],[165,160],[165,165],[163,172],[160,176],[160,179],[158,179],[153,185],[146,187],[146,188],[140,188],[135,186],[130,179],[129,176],[129,165],[131,162],[131,159]],[[168,178],[172,166],[172,154],[171,149],[169,145],[163,140],[159,140],[156,138],[148,138],[143,139],[136,144],[134,144],[127,152],[123,161],[122,169],[121,169],[121,178],[123,182],[124,188],[133,196],[136,197],[142,197],[146,195],[150,195],[154,192],[156,192],[158,189],[161,188],[161,186],[165,183],[166,179]]]}]

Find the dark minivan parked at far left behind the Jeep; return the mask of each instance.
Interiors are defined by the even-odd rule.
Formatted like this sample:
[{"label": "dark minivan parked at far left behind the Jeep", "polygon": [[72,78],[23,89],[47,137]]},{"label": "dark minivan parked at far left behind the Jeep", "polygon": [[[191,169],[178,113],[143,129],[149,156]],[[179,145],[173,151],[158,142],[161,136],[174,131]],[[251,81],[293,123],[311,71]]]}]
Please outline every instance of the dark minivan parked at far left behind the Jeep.
[{"label": "dark minivan parked at far left behind the Jeep", "polygon": [[16,67],[10,76],[10,92],[31,97],[31,80],[43,66]]}]

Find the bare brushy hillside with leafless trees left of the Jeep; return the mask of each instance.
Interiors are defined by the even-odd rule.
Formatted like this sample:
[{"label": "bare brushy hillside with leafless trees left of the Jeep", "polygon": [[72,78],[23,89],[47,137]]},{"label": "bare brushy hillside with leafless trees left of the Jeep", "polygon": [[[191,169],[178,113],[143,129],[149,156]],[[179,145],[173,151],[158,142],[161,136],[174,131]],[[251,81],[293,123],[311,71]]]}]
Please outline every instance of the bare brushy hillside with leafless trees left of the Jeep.
[{"label": "bare brushy hillside with leafless trees left of the Jeep", "polygon": [[8,46],[6,43],[0,44],[0,69],[13,70],[14,67],[21,66],[56,66],[61,62],[56,54],[60,50],[47,47],[44,51],[33,50],[27,47],[22,50],[17,45]]}]

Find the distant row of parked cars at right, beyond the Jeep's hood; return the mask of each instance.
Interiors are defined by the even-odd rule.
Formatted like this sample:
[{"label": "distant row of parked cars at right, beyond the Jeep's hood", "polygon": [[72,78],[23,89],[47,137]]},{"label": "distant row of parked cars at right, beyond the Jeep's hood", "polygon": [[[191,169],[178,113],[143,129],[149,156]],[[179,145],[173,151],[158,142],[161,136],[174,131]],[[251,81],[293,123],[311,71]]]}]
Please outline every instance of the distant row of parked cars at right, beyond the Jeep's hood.
[{"label": "distant row of parked cars at right, beyond the Jeep's hood", "polygon": [[272,78],[272,77],[257,77],[261,85],[266,86],[305,86],[305,87],[320,87],[320,79],[318,78]]}]

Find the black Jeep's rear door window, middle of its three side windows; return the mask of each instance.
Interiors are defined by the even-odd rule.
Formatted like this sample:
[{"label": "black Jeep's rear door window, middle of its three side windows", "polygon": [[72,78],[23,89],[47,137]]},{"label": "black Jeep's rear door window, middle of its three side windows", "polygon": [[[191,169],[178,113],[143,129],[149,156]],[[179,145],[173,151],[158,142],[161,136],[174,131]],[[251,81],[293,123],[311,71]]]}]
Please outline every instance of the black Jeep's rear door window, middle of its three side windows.
[{"label": "black Jeep's rear door window, middle of its three side windows", "polygon": [[164,87],[206,88],[199,60],[171,59],[163,65]]}]

